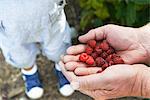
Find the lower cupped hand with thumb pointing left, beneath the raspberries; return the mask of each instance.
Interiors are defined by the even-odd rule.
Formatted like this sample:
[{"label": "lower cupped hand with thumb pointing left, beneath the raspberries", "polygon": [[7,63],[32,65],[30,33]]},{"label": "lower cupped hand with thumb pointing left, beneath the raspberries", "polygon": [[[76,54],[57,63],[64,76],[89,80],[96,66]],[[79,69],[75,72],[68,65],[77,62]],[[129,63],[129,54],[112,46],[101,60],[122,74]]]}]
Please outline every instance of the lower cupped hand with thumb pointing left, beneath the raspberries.
[{"label": "lower cupped hand with thumb pointing left, beneath the raspberries", "polygon": [[[73,72],[66,71],[63,62],[60,62],[60,65],[63,74],[71,82],[74,89],[96,100],[124,96],[150,97],[150,93],[148,92],[150,87],[146,87],[149,86],[150,81],[148,82],[148,80],[143,77],[143,70],[147,69],[145,65],[113,65],[102,73],[87,76],[76,76]],[[148,73],[146,72],[144,74],[146,75]],[[147,85],[145,85],[146,83]],[[147,91],[149,95],[144,94],[147,93],[145,91]]]}]

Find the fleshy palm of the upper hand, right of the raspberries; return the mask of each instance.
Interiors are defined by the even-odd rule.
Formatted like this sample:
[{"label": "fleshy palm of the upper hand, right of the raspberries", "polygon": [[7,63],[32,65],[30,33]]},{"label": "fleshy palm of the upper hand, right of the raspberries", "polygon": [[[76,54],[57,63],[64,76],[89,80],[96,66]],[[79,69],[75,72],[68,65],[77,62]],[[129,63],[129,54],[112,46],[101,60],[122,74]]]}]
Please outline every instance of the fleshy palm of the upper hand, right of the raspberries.
[{"label": "fleshy palm of the upper hand, right of the raspberries", "polygon": [[146,51],[139,42],[138,31],[133,28],[111,26],[105,29],[106,40],[117,50],[126,63],[143,63]]}]

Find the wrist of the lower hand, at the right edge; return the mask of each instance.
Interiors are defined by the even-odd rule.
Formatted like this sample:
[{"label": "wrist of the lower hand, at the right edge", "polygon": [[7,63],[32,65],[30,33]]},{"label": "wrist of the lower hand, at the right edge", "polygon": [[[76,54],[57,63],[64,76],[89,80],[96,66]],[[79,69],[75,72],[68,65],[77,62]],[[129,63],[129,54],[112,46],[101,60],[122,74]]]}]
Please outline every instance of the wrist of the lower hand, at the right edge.
[{"label": "wrist of the lower hand, at the right edge", "polygon": [[150,98],[150,68],[137,64],[136,83],[134,89],[134,96],[141,96],[144,98]]}]

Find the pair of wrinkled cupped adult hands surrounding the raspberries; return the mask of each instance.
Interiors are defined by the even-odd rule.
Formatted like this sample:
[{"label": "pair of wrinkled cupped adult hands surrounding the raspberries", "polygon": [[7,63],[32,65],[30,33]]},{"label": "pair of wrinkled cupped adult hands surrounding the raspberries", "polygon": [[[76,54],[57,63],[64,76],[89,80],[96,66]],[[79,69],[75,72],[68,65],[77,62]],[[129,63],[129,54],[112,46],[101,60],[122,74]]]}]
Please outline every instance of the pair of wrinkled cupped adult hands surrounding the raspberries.
[{"label": "pair of wrinkled cupped adult hands surrounding the raspberries", "polygon": [[85,52],[86,47],[79,44],[68,48],[67,55],[60,62],[62,72],[76,90],[96,100],[141,96],[141,70],[146,66],[135,63],[147,63],[149,58],[145,48],[146,37],[141,32],[138,28],[117,25],[105,25],[89,31],[79,37],[81,43],[105,39],[117,50],[125,64],[113,65],[102,73],[96,73],[101,69],[79,62],[79,54]]}]

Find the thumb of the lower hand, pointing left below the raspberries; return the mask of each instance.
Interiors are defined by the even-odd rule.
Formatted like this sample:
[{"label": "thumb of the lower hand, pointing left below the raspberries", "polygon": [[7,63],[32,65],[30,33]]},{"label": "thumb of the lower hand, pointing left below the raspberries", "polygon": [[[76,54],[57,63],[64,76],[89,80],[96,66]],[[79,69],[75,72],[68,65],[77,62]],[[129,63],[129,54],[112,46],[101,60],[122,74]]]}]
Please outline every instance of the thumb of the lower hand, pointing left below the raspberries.
[{"label": "thumb of the lower hand, pointing left below the raspberries", "polygon": [[103,74],[92,74],[88,76],[78,77],[71,82],[71,86],[75,90],[93,90],[101,89],[105,86],[106,80]]}]

